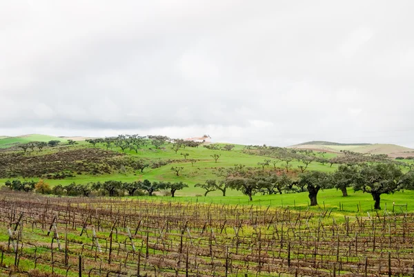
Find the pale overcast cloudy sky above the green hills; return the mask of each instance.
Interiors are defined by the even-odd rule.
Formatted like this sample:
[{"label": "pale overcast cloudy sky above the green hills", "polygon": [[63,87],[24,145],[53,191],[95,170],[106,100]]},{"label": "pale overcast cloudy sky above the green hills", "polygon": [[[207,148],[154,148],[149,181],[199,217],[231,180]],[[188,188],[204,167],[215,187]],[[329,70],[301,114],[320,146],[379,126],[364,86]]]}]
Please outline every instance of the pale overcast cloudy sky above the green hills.
[{"label": "pale overcast cloudy sky above the green hills", "polygon": [[414,1],[0,1],[0,135],[414,147]]}]

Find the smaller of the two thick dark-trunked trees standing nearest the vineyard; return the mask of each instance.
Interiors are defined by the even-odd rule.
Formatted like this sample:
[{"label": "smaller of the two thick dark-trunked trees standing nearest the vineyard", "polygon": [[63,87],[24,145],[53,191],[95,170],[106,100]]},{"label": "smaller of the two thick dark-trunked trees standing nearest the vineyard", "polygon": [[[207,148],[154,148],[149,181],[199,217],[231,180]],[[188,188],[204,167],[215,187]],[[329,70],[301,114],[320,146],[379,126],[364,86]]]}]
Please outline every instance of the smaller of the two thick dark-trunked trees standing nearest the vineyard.
[{"label": "smaller of the two thick dark-trunked trees standing nearest the vineyard", "polygon": [[328,173],[321,171],[308,171],[299,175],[299,184],[306,185],[311,206],[317,205],[317,193],[320,189],[330,189],[332,187],[330,181]]}]

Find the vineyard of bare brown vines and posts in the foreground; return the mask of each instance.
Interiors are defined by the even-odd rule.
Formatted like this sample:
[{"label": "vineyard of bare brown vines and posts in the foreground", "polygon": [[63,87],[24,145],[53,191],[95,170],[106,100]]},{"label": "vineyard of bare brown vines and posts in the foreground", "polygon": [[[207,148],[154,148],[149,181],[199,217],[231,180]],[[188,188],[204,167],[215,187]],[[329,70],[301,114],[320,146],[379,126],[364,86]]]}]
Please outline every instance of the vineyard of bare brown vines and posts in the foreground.
[{"label": "vineyard of bare brown vines and posts in the foreground", "polygon": [[12,192],[0,211],[2,276],[414,275],[405,213]]}]

